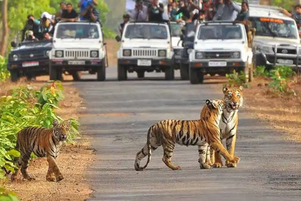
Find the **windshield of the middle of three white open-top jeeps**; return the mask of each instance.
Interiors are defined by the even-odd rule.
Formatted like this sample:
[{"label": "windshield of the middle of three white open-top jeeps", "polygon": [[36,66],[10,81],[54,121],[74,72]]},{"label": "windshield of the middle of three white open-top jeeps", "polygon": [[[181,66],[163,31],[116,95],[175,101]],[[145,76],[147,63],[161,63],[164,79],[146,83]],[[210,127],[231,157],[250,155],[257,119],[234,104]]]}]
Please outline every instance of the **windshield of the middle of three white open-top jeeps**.
[{"label": "windshield of the middle of three white open-top jeeps", "polygon": [[167,27],[164,25],[131,24],[127,25],[126,39],[168,39]]}]

